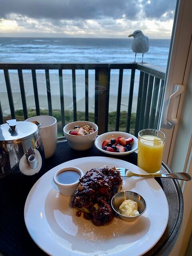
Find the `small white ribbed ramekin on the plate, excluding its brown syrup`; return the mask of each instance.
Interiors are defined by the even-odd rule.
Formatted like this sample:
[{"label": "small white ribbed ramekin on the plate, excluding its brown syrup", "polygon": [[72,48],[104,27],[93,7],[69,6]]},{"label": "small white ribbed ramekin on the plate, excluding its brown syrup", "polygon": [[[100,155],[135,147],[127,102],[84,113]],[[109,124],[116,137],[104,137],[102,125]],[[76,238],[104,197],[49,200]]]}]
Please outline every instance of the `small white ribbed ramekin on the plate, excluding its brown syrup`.
[{"label": "small white ribbed ramekin on the plate, excluding its brown syrup", "polygon": [[[66,171],[74,171],[77,172],[80,177],[76,182],[70,183],[70,184],[65,184],[64,182],[59,182],[57,179],[57,176],[62,173],[62,172],[66,172]],[[76,192],[76,188],[78,187],[79,184],[79,180],[80,178],[82,178],[82,176],[84,175],[83,171],[80,168],[74,167],[74,166],[68,166],[65,168],[62,168],[60,170],[58,170],[54,176],[53,176],[53,181],[54,183],[58,186],[58,189],[60,191],[60,193],[64,196],[73,196]]]}]

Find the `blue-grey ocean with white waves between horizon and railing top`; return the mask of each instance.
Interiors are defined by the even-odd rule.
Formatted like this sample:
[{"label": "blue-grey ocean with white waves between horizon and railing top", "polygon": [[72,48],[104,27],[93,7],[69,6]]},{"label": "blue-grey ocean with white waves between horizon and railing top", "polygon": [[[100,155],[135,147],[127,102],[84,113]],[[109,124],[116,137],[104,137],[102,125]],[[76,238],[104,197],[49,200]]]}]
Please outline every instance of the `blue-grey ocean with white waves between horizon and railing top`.
[{"label": "blue-grey ocean with white waves between horizon and railing top", "polygon": [[[0,62],[127,63],[132,38],[0,38]],[[144,62],[166,67],[170,40],[149,39]],[[136,61],[141,62],[142,54]]]}]

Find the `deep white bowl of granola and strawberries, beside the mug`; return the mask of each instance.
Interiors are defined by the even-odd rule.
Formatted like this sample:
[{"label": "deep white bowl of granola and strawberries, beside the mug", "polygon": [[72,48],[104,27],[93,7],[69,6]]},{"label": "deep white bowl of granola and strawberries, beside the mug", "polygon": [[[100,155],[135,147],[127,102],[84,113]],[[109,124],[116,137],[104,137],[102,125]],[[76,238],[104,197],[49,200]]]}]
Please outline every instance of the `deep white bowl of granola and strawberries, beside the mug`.
[{"label": "deep white bowl of granola and strawberries, beside the mug", "polygon": [[63,131],[71,148],[75,150],[87,150],[94,143],[98,134],[98,126],[88,121],[76,121],[66,124]]}]

